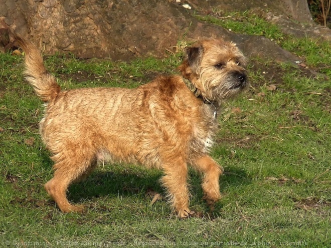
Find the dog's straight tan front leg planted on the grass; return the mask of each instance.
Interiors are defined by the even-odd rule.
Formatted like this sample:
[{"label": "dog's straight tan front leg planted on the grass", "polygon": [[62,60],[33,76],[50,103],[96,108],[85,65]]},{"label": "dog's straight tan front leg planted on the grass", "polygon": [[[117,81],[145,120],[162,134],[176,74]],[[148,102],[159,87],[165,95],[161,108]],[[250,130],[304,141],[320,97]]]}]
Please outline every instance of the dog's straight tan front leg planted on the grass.
[{"label": "dog's straight tan front leg planted on the grass", "polygon": [[189,208],[189,189],[187,183],[188,168],[186,161],[179,157],[176,159],[163,159],[164,176],[162,184],[168,190],[168,196],[179,217],[189,217],[194,212]]}]

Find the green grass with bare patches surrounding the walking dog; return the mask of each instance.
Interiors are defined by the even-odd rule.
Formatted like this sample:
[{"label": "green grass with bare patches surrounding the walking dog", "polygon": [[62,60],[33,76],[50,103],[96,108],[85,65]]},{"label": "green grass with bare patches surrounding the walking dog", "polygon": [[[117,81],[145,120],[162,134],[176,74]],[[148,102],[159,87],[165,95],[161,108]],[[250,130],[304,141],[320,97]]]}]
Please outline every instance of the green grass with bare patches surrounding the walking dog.
[{"label": "green grass with bare patches surrounding the walking dog", "polygon": [[[265,31],[254,35],[270,34],[309,67],[330,75],[325,66],[330,64],[329,44],[312,45],[277,30],[272,34],[271,25],[257,16],[242,14],[246,19]],[[243,21],[231,22],[223,23],[235,30]],[[243,26],[248,27],[236,32],[249,33]],[[165,201],[151,205],[148,192],[163,192],[161,171],[120,164],[105,164],[72,185],[69,199],[87,209],[63,214],[43,188],[52,177],[52,161],[38,133],[42,102],[23,80],[22,61],[22,56],[0,55],[1,246],[329,247],[329,79],[307,77],[289,64],[251,59],[250,89],[225,104],[219,117],[212,156],[225,173],[223,198],[215,210],[202,200],[200,178],[190,171],[191,207],[204,217],[181,220]],[[130,63],[72,56],[50,56],[45,62],[62,88],[71,89],[136,87],[159,73],[174,73],[180,61],[171,55]]]}]

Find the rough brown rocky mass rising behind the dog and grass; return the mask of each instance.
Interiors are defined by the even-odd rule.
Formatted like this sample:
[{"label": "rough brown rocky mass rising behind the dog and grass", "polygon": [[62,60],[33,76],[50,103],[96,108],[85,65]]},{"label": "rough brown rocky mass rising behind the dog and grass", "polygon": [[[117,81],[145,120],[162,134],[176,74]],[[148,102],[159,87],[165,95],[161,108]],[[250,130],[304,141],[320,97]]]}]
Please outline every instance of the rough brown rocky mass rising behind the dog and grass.
[{"label": "rough brown rocky mass rising behind the dog and grass", "polygon": [[[263,4],[261,4],[263,3]],[[262,6],[261,6],[262,5]],[[268,39],[234,34],[197,20],[195,11],[268,8],[289,20],[311,24],[304,0],[0,0],[0,47],[15,46],[7,28],[35,42],[45,54],[73,53],[79,58],[128,60],[162,57],[179,41],[220,38],[235,41],[248,56],[295,60]],[[277,23],[275,16],[266,17]]]}]

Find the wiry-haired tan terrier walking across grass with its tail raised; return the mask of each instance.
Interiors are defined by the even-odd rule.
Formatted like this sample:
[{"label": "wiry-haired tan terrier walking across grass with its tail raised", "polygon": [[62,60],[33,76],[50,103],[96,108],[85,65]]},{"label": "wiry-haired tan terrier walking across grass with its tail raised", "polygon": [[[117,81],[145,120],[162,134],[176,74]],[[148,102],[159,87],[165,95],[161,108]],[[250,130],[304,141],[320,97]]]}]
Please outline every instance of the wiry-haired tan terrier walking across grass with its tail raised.
[{"label": "wiry-haired tan terrier walking across grass with its tail raised", "polygon": [[17,41],[25,52],[26,79],[45,102],[40,134],[54,161],[45,188],[63,212],[82,211],[66,191],[100,160],[162,169],[161,182],[180,217],[194,214],[188,165],[201,172],[207,203],[221,198],[223,168],[208,153],[221,103],[247,85],[247,61],[236,44],[202,41],[186,49],[181,75],[158,76],[135,89],[61,91],[37,47],[25,38]]}]

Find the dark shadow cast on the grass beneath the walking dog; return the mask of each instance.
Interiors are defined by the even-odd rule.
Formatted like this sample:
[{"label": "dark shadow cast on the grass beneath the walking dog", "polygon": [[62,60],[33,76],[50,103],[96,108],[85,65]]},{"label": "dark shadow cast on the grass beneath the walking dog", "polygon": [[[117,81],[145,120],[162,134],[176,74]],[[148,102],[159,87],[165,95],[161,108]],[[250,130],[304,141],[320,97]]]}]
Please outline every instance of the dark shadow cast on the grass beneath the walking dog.
[{"label": "dark shadow cast on the grass beneath the walking dog", "polygon": [[[83,203],[86,201],[95,201],[97,198],[109,196],[113,197],[145,197],[150,191],[155,191],[161,195],[165,195],[165,191],[160,184],[159,179],[162,176],[161,170],[132,170],[133,167],[121,168],[120,170],[101,172],[96,171],[88,177],[87,180],[75,183],[70,186],[68,198],[74,204]],[[213,219],[219,217],[219,212],[223,208],[221,202],[217,202],[214,207],[209,207],[203,200],[203,191],[201,188],[201,175],[190,170],[189,183],[190,190],[193,195],[191,206],[199,206],[204,209],[203,216]],[[220,178],[221,194],[224,191],[238,186],[245,186],[251,183],[251,178],[246,170],[236,167],[226,168],[224,175]],[[93,199],[94,198],[94,199]],[[134,200],[134,199],[132,199]],[[235,201],[235,200],[234,200]],[[148,203],[146,203],[148,204]],[[193,207],[193,210],[194,209]]]}]

